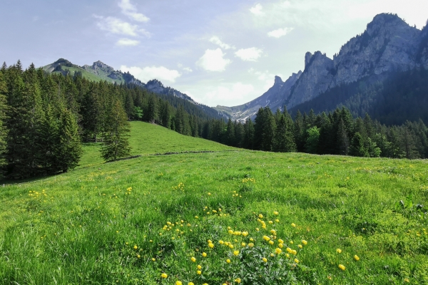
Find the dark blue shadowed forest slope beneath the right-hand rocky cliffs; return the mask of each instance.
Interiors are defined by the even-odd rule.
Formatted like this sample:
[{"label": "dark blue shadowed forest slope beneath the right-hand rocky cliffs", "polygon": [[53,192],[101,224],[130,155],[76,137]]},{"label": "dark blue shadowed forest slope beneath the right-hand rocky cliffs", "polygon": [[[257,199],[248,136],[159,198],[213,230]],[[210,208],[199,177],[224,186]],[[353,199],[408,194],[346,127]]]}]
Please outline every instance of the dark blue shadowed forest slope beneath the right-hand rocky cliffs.
[{"label": "dark blue shadowed forest slope beneath the right-hand rocky cliffs", "polygon": [[428,124],[428,71],[414,69],[389,74],[387,78],[362,78],[337,86],[310,101],[290,108],[302,113],[330,112],[345,106],[354,117],[369,114],[385,125],[402,125],[421,119]]}]

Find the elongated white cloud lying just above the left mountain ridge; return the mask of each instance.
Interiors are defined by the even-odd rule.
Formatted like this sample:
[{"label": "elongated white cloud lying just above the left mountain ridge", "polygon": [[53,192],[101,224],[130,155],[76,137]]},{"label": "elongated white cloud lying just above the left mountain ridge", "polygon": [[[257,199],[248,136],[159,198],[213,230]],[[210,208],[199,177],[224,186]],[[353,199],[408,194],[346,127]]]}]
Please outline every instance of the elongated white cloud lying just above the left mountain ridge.
[{"label": "elongated white cloud lying just above the left mountain ridge", "polygon": [[144,83],[147,83],[147,81],[150,81],[152,79],[175,83],[175,79],[181,76],[178,71],[170,70],[163,66],[146,66],[145,68],[139,68],[137,66],[121,66],[121,71],[129,71],[129,73],[131,73],[133,76],[143,81]]}]

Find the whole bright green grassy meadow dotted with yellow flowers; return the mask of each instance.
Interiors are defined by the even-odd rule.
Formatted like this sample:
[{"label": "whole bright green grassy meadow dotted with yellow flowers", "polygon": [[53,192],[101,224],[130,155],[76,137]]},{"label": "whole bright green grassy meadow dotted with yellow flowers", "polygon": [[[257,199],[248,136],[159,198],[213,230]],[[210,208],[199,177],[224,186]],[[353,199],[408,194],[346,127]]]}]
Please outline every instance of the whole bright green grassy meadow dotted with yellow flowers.
[{"label": "whole bright green grassy meadow dotted with yellow flowers", "polygon": [[427,160],[131,145],[0,188],[0,284],[428,284]]}]

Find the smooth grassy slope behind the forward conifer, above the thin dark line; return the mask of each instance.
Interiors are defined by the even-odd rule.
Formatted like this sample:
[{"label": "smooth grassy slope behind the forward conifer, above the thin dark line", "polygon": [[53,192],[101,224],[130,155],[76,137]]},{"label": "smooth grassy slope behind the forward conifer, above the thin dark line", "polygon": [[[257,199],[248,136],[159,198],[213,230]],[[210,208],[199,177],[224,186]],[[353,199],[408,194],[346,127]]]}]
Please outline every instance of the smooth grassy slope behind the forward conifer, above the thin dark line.
[{"label": "smooth grassy slope behind the forward conifer, above the thin dark line", "polygon": [[[235,150],[212,140],[180,135],[173,130],[144,122],[131,122],[129,134],[131,155],[148,155],[165,152],[185,152],[200,150]],[[83,155],[79,167],[88,167],[103,163],[99,150],[101,143],[88,143],[83,145]]]}]

